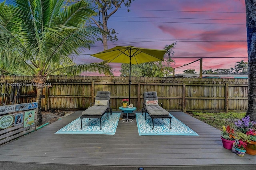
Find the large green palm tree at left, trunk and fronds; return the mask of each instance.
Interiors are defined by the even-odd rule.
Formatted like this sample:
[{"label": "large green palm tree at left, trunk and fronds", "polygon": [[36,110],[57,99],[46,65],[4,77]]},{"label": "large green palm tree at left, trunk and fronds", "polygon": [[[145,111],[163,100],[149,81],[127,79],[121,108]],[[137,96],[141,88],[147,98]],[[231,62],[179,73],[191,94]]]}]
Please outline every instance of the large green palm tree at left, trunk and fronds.
[{"label": "large green palm tree at left, trunk and fronds", "polygon": [[90,2],[65,6],[65,0],[15,0],[0,4],[0,56],[12,69],[34,75],[37,84],[38,125],[42,124],[42,84],[60,72],[77,75],[83,71],[112,75],[106,62],[77,65],[73,59],[81,48],[90,48],[102,31],[88,24],[95,12]]}]

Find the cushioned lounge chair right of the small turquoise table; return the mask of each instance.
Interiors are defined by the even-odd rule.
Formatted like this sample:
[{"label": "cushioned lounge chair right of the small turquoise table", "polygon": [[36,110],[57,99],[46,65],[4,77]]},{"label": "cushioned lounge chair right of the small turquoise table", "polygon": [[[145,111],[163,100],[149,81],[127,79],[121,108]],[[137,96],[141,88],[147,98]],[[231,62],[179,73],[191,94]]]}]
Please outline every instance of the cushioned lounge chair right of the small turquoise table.
[{"label": "cushioned lounge chair right of the small turquoise table", "polygon": [[[152,130],[154,129],[154,119],[170,119],[170,129],[171,128],[171,121],[172,117],[169,115],[169,112],[162,108],[163,104],[158,103],[158,97],[156,91],[148,91],[143,93],[143,108],[142,108],[142,115],[145,112],[145,120],[146,120],[146,113],[152,119]],[[160,105],[161,106],[160,106]]]}]

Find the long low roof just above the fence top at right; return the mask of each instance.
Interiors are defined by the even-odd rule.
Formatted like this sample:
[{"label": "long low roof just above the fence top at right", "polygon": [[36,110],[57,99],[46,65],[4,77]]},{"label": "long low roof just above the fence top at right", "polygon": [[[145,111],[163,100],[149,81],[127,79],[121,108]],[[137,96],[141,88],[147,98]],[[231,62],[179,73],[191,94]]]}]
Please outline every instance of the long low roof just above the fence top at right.
[{"label": "long low roof just above the fence top at right", "polygon": [[[199,74],[176,74],[174,77],[196,78]],[[230,79],[248,79],[247,74],[202,74],[202,78],[230,78]]]}]

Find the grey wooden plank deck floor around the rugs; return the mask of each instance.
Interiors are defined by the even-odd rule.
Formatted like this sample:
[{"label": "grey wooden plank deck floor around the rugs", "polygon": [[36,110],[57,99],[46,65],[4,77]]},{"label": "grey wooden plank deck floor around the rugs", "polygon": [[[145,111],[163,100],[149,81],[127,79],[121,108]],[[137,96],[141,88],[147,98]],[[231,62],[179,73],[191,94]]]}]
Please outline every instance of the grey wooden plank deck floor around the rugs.
[{"label": "grey wooden plank deck floor around the rugs", "polygon": [[81,112],[1,146],[0,169],[252,170],[256,166],[256,156],[240,157],[223,148],[220,130],[183,112],[170,113],[200,136],[139,136],[136,119],[120,120],[115,135],[54,134]]}]

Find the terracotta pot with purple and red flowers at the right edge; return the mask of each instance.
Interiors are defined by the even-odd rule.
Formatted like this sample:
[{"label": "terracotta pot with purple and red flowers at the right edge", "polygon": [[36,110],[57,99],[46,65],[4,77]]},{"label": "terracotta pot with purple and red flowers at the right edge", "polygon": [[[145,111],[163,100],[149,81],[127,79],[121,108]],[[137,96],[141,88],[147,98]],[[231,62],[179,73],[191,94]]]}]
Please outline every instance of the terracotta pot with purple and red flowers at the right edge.
[{"label": "terracotta pot with purple and red flowers at the right edge", "polygon": [[236,138],[246,142],[246,153],[256,155],[256,121],[250,121],[246,116],[234,122],[236,125]]}]

